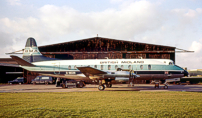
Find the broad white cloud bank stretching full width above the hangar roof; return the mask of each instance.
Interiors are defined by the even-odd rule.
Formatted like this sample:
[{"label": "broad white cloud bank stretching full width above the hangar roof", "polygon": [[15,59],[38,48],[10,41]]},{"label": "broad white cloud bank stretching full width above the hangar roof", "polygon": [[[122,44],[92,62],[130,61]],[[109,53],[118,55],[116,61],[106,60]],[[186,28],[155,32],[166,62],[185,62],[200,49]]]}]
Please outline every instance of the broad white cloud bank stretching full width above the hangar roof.
[{"label": "broad white cloud bank stretching full width above the hangar roof", "polygon": [[[44,5],[36,9],[37,15],[1,18],[0,32],[9,35],[2,37],[2,41],[10,41],[5,42],[10,45],[4,48],[9,47],[13,51],[22,49],[28,37],[34,37],[39,45],[45,45],[99,34],[107,38],[179,46],[201,53],[202,42],[199,39],[202,37],[198,35],[202,27],[201,8],[166,10],[160,7],[163,3],[145,0],[111,0],[111,3],[119,4],[119,7],[81,12],[65,5]],[[181,57],[188,58],[187,55],[182,54]],[[176,60],[181,57],[177,56]],[[195,57],[199,59],[202,56]]]}]

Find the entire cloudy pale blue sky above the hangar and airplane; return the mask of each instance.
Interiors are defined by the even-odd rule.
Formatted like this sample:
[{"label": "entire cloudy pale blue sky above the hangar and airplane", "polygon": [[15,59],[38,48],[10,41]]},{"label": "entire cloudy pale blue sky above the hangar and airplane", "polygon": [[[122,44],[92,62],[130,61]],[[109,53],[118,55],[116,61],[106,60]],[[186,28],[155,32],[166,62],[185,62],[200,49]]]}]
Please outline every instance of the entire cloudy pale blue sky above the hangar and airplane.
[{"label": "entire cloudy pale blue sky above the hangar and airplane", "polygon": [[96,37],[172,46],[176,65],[202,69],[201,0],[0,0],[0,58],[24,48]]}]

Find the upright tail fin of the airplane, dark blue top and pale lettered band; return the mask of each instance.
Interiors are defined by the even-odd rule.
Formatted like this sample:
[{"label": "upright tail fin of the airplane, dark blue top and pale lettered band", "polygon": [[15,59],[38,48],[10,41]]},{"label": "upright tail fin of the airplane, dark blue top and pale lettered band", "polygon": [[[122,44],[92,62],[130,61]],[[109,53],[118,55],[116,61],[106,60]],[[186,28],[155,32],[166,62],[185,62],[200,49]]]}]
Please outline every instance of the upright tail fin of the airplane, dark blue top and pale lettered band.
[{"label": "upright tail fin of the airplane, dark blue top and pale lettered band", "polygon": [[27,62],[55,60],[53,58],[43,56],[37,47],[35,39],[31,37],[27,39],[22,58]]}]

